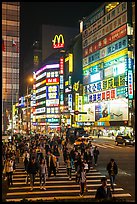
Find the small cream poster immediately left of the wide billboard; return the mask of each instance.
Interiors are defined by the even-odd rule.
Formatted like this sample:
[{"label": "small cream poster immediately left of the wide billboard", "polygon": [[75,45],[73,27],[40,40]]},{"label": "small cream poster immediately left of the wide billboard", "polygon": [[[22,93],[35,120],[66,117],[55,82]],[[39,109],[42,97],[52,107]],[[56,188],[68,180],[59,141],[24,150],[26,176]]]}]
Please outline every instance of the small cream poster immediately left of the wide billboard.
[{"label": "small cream poster immediately left of the wide billboard", "polygon": [[84,104],[83,105],[84,112],[87,112],[87,114],[83,114],[83,120],[85,122],[88,121],[95,121],[95,104]]}]

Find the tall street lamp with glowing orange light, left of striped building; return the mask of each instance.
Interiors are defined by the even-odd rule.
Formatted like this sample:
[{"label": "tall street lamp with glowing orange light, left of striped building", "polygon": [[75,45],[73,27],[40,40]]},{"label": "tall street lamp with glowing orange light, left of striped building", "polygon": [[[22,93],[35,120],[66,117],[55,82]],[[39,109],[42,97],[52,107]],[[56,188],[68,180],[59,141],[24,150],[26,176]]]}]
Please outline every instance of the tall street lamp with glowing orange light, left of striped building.
[{"label": "tall street lamp with glowing orange light, left of striped building", "polygon": [[29,130],[28,130],[29,119],[30,119],[30,131],[31,131],[31,112],[29,115],[29,111],[28,111],[28,108],[29,108],[29,84],[32,84],[33,81],[34,80],[31,77],[31,78],[29,78],[28,83],[27,83],[27,134],[29,133]]}]

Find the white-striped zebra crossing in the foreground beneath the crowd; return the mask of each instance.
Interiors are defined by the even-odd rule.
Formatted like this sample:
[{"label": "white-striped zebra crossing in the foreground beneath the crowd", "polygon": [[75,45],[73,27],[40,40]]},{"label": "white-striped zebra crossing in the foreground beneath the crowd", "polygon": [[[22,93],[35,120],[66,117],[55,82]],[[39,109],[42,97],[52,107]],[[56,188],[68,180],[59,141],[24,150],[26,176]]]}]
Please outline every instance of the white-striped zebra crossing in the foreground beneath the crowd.
[{"label": "white-striped zebra crossing in the foreground beneath the crowd", "polygon": [[[84,199],[95,198],[96,189],[101,185],[100,180],[102,176],[104,175],[101,175],[101,173],[94,168],[87,173],[88,192],[85,192],[83,196]],[[50,179],[46,180],[46,191],[40,189],[39,176],[36,176],[33,191],[30,191],[30,184],[26,184],[25,178],[26,173],[23,166],[18,166],[13,174],[13,186],[9,187],[9,191],[6,195],[6,202],[19,202],[23,199],[30,201],[81,199],[79,196],[79,184],[75,182],[75,172],[72,170],[72,180],[69,180],[64,163],[60,163],[59,172],[57,172],[55,178],[52,175]],[[110,185],[109,179],[108,185]],[[113,197],[129,198],[131,195],[129,193],[124,193],[124,189],[116,185]]]}]

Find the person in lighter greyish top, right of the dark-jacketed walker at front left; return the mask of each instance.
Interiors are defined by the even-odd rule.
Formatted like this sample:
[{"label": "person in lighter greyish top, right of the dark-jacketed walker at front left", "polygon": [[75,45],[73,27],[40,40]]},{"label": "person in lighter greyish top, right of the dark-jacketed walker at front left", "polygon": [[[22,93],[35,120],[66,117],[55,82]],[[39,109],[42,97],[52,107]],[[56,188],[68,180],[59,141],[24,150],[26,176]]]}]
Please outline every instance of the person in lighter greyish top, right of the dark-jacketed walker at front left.
[{"label": "person in lighter greyish top, right of the dark-jacketed walker at front left", "polygon": [[41,159],[40,161],[40,169],[39,169],[39,175],[40,175],[40,189],[46,190],[45,184],[46,184],[46,174],[48,172],[47,165],[45,162],[45,159]]}]

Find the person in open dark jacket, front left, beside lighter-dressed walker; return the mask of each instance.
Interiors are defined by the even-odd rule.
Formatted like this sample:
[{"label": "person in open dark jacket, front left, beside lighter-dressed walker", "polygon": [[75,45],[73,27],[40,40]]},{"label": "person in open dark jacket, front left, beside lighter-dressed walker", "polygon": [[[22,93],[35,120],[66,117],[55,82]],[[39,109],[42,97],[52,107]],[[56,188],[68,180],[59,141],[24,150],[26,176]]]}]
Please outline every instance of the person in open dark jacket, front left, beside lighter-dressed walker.
[{"label": "person in open dark jacket, front left, beside lighter-dressed walker", "polygon": [[35,177],[36,177],[36,174],[38,173],[38,170],[39,170],[38,163],[36,162],[35,157],[32,157],[28,163],[28,168],[27,168],[27,173],[29,174],[29,177],[30,177],[31,191],[33,190]]}]

